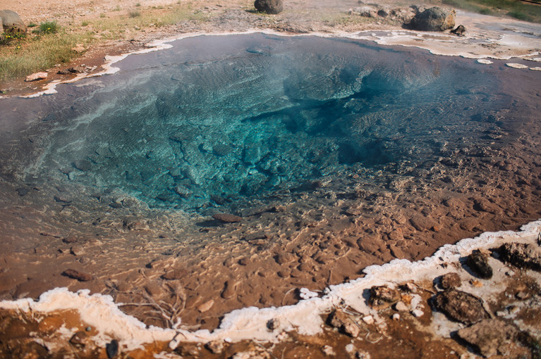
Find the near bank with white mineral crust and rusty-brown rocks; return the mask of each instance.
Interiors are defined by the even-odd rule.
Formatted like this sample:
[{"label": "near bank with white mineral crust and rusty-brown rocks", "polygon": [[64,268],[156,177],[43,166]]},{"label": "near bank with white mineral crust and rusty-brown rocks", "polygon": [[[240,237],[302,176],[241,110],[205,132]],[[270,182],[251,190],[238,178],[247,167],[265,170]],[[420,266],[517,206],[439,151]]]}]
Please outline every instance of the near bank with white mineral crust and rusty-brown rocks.
[{"label": "near bank with white mineral crust and rusty-brown rocks", "polygon": [[541,222],[522,232],[485,233],[417,263],[367,267],[365,277],[322,292],[297,289],[295,306],[233,311],[213,332],[145,327],[110,297],[55,289],[37,302],[0,302],[0,353],[539,358],[540,243]]}]

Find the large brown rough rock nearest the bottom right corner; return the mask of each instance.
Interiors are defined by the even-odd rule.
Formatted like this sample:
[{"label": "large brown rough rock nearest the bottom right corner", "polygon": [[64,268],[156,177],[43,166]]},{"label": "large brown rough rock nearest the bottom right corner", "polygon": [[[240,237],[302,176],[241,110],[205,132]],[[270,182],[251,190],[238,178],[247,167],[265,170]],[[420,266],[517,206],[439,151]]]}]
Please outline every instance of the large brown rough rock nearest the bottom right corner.
[{"label": "large brown rough rock nearest the bottom right corner", "polygon": [[488,358],[498,353],[505,353],[509,344],[516,341],[518,330],[503,320],[485,319],[458,330],[457,334],[478,353]]}]

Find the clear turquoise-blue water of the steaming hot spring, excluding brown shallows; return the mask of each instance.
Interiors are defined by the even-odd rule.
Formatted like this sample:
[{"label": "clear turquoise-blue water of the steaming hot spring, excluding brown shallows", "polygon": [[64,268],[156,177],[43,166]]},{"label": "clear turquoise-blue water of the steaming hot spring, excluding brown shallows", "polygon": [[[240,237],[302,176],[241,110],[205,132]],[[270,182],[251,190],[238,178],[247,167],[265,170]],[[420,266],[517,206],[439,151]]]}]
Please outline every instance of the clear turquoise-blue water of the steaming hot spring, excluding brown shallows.
[{"label": "clear turquoise-blue water of the steaming hot spring, excluding brown shallows", "polygon": [[16,171],[151,207],[233,206],[348,176],[422,177],[490,144],[509,101],[487,66],[417,49],[266,34],[173,45],[19,100],[40,145]]}]

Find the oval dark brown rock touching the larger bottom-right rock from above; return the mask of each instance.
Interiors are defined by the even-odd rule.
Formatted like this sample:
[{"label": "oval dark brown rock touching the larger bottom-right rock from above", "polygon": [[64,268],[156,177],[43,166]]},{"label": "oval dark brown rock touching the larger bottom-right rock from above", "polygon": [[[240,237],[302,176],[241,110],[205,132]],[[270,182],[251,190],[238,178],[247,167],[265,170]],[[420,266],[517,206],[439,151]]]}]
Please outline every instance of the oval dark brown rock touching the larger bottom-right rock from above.
[{"label": "oval dark brown rock touching the larger bottom-right rock from above", "polygon": [[439,292],[433,303],[437,310],[456,322],[472,324],[488,317],[480,298],[456,289]]}]

